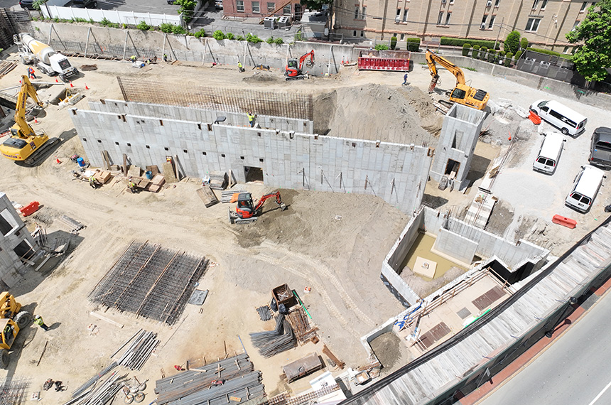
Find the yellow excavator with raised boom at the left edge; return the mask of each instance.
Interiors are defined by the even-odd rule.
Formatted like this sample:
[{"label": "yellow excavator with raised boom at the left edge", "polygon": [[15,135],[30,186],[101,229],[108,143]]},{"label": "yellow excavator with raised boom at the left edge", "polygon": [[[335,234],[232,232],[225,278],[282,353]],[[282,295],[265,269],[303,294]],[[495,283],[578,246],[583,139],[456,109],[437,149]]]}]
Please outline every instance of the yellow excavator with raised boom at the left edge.
[{"label": "yellow excavator with raised boom at the left edge", "polygon": [[36,95],[36,89],[28,77],[23,75],[21,76],[21,90],[15,106],[15,125],[11,127],[11,137],[0,145],[0,153],[12,161],[33,166],[44,157],[45,151],[59,144],[60,139],[49,139],[44,131],[36,134],[28,124],[26,121],[28,96],[36,102],[36,106],[43,107],[43,102],[40,102]]}]

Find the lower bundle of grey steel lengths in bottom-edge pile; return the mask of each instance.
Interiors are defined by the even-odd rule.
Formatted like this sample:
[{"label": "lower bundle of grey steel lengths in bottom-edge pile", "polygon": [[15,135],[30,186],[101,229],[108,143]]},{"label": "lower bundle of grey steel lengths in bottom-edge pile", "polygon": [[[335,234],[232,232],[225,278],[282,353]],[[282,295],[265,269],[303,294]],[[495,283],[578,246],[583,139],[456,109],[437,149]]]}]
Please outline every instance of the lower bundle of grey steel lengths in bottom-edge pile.
[{"label": "lower bundle of grey steel lengths in bottom-edge pile", "polygon": [[[242,377],[226,380],[224,384],[202,389],[191,394],[183,394],[169,405],[225,405],[232,404],[230,397],[239,398],[239,402],[263,396],[264,386],[261,384],[261,372],[258,370],[244,374]],[[157,402],[161,404],[160,402]]]}]

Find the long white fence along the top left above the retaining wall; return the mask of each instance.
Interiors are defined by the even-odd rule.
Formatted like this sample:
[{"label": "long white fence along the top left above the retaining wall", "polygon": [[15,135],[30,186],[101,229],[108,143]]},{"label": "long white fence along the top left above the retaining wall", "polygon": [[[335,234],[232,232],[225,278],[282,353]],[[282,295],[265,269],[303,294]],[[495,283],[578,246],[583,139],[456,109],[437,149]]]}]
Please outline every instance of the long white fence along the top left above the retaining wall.
[{"label": "long white fence along the top left above the retaining wall", "polygon": [[118,11],[118,10],[97,10],[97,9],[75,9],[74,7],[60,6],[43,6],[40,11],[46,18],[60,18],[70,20],[73,18],[85,18],[96,22],[106,18],[112,23],[132,24],[137,25],[141,21],[145,21],[149,26],[159,26],[161,23],[171,23],[177,26],[182,25],[180,16],[171,16],[168,14],[152,14],[152,13],[135,13],[134,11]]}]

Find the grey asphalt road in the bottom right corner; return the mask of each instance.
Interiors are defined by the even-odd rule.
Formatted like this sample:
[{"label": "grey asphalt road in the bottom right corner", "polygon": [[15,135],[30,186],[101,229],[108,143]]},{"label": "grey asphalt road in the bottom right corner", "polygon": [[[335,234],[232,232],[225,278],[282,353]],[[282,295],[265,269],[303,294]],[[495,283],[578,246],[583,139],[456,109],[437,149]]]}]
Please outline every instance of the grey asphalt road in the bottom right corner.
[{"label": "grey asphalt road in the bottom right corner", "polygon": [[563,337],[480,405],[611,404],[611,298],[602,298]]}]

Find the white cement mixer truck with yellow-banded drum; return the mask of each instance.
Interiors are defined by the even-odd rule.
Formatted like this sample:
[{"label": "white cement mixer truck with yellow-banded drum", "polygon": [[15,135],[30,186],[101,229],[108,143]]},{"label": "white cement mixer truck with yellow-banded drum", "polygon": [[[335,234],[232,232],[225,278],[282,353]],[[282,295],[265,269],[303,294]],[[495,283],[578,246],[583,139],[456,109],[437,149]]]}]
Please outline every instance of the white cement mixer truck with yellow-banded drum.
[{"label": "white cement mixer truck with yellow-banded drum", "polygon": [[59,75],[63,82],[78,75],[78,70],[70,65],[70,61],[61,53],[55,52],[46,43],[36,41],[28,33],[13,35],[13,42],[19,48],[21,63],[35,64],[40,72],[49,76]]}]

